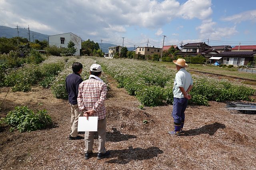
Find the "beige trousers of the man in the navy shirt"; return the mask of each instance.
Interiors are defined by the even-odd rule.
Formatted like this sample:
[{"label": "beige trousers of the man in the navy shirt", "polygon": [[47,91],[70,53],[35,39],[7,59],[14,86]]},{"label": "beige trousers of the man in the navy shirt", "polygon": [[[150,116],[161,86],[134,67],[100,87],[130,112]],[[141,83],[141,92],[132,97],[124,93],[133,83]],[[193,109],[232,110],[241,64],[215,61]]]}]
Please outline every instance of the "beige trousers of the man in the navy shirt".
[{"label": "beige trousers of the man in the navy shirt", "polygon": [[78,126],[78,117],[83,116],[83,112],[79,110],[78,104],[72,105],[71,107],[71,133],[70,135],[72,137],[76,137],[78,135],[77,126]]}]

